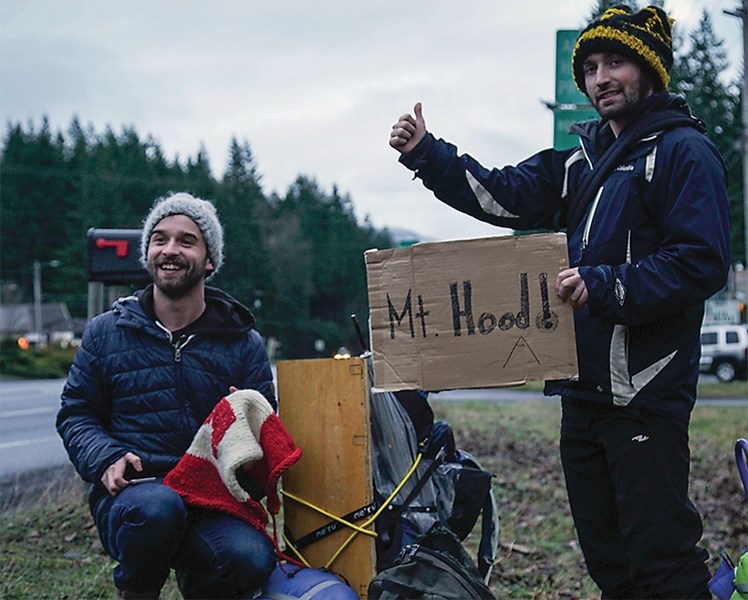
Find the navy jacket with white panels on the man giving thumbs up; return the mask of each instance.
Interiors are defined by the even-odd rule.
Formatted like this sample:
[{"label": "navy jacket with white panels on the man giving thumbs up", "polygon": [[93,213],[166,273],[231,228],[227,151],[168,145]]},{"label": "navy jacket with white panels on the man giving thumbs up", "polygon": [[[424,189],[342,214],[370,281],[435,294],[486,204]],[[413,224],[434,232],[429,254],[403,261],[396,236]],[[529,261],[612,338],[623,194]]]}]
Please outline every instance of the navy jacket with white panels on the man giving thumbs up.
[{"label": "navy jacket with white panels on the man giving thumbs up", "polygon": [[[667,93],[650,102],[688,110]],[[570,264],[589,293],[574,314],[579,378],[547,382],[546,394],[690,413],[704,300],[725,285],[730,262],[726,171],[693,123],[639,140],[570,234]],[[574,132],[578,148],[545,150],[503,169],[488,170],[430,134],[400,161],[440,200],[477,219],[554,229],[612,142],[599,121]]]}]

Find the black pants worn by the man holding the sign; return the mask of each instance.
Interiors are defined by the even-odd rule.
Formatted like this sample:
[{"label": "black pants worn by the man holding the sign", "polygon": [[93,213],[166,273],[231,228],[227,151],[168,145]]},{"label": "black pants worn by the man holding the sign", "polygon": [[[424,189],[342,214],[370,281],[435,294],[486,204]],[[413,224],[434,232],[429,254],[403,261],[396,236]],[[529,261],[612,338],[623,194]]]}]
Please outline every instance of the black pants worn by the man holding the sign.
[{"label": "black pants worn by the man holding the sign", "polygon": [[564,398],[561,463],[587,570],[604,598],[711,598],[688,498],[688,423]]}]

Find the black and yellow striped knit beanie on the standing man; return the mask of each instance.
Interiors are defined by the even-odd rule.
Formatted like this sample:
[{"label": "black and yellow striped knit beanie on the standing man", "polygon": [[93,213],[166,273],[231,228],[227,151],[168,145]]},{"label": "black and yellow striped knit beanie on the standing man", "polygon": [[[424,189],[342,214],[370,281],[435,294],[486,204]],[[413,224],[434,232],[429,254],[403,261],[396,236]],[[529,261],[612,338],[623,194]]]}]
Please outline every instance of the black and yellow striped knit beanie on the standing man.
[{"label": "black and yellow striped knit beanie on the standing man", "polygon": [[634,13],[628,6],[614,6],[579,34],[572,54],[577,87],[584,85],[584,59],[595,52],[618,53],[644,67],[656,88],[666,89],[673,66],[670,19],[661,8],[648,6]]}]

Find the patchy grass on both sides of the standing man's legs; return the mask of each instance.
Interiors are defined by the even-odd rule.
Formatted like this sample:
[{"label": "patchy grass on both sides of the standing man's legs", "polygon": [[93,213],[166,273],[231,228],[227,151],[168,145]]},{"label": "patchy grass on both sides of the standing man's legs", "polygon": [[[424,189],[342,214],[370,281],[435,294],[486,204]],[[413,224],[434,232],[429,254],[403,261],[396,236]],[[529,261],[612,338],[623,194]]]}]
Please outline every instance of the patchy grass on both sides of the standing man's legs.
[{"label": "patchy grass on both sides of the standing man's legs", "polygon": [[[501,553],[491,588],[499,598],[595,598],[578,548],[558,457],[560,407],[440,404],[458,446],[496,474]],[[704,517],[712,570],[719,551],[748,547],[748,524],[733,446],[748,436],[745,407],[698,406],[691,425],[691,495]]]}]

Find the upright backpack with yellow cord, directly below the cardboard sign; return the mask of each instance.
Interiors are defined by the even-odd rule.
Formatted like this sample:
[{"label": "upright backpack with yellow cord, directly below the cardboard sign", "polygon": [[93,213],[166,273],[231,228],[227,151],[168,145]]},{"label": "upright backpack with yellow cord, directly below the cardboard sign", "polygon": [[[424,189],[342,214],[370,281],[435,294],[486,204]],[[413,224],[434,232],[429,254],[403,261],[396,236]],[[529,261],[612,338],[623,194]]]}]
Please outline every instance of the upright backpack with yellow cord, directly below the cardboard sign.
[{"label": "upright backpack with yellow cord, directly below the cardboard sign", "polygon": [[[373,382],[371,352],[356,315],[351,318]],[[456,448],[447,422],[434,421],[427,392],[371,387],[369,407],[374,506],[384,508],[375,521],[376,571],[391,567],[404,547],[433,527],[446,527],[464,540],[481,517],[477,568],[488,582],[500,526],[493,475]],[[464,552],[459,542],[457,546]]]}]

